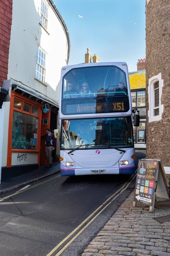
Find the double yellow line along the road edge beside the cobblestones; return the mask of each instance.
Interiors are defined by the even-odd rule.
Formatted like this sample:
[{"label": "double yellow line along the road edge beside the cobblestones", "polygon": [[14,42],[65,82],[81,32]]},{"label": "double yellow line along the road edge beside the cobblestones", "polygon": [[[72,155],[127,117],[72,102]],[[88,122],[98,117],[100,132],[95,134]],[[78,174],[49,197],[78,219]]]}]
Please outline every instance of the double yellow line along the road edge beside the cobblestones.
[{"label": "double yellow line along the road edge beside the cobblestones", "polygon": [[[59,256],[86,229],[86,227],[88,227],[100,215],[100,213],[102,213],[120,194],[122,194],[123,191],[125,191],[127,189],[127,187],[130,185],[130,183],[132,182],[132,180],[135,177],[136,177],[136,173],[130,177],[129,182],[127,181],[120,189],[118,189],[113,195],[111,195],[110,198],[108,198],[93,213],[91,213],[91,215],[89,215],[88,218],[86,218],[81,224],[79,224],[79,226],[77,228],[75,228],[68,236],[66,236],[65,239],[63,239],[59,244],[57,244],[57,246],[54,247],[54,249],[51,250],[51,252],[49,252],[47,254],[47,256],[51,256],[65,241],[67,241],[74,233],[76,233],[79,230],[80,227],[82,227],[88,221],[88,223],[84,227],[82,227],[82,229],[79,230],[79,232],[70,241],[68,241],[68,243],[65,244],[65,246],[62,247],[62,249],[59,250],[59,252],[57,254],[55,254],[55,256]],[[105,207],[103,207],[104,205],[105,205]],[[99,209],[101,209],[101,210],[99,211]],[[96,213],[96,212],[98,212],[98,213]],[[93,217],[93,218],[91,219],[91,217]],[[91,219],[91,220],[89,221],[89,219]]]}]

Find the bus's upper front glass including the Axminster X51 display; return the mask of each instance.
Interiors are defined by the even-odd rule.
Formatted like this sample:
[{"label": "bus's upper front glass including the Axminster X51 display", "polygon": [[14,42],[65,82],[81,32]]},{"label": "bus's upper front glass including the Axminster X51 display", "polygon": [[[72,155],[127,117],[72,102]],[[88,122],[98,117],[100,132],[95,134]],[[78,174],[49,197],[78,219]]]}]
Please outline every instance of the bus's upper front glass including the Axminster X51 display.
[{"label": "bus's upper front glass including the Axminster X51 display", "polygon": [[61,105],[64,115],[127,112],[126,73],[116,66],[74,68],[63,76]]}]

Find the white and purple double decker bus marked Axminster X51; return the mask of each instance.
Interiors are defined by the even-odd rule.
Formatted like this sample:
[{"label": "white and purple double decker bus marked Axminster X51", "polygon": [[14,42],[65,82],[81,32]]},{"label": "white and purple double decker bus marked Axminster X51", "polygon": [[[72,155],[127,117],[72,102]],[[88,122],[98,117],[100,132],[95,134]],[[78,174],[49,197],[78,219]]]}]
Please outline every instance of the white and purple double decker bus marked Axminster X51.
[{"label": "white and purple double decker bus marked Axminster X51", "polygon": [[[133,174],[133,111],[127,64],[62,67],[60,89],[61,175]],[[137,112],[134,126],[139,126]]]}]

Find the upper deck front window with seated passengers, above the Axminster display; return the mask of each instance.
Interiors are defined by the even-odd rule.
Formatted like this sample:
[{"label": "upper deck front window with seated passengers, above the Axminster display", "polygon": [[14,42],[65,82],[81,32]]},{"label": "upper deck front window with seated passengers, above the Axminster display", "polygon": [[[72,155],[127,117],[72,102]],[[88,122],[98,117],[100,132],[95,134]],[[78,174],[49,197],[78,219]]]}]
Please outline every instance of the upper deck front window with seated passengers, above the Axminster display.
[{"label": "upper deck front window with seated passengers, above the Axminster display", "polygon": [[125,72],[115,66],[81,67],[63,77],[63,99],[101,95],[127,96]]}]

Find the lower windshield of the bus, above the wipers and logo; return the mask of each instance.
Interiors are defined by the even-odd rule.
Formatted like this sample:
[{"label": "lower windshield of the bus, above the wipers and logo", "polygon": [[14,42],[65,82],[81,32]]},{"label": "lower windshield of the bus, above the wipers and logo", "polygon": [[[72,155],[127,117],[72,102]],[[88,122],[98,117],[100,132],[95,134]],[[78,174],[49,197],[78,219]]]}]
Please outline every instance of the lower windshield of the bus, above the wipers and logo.
[{"label": "lower windshield of the bus, above the wipers and logo", "polygon": [[61,149],[111,147],[133,147],[130,116],[62,121]]}]

